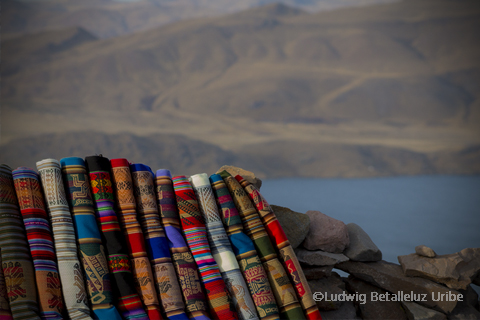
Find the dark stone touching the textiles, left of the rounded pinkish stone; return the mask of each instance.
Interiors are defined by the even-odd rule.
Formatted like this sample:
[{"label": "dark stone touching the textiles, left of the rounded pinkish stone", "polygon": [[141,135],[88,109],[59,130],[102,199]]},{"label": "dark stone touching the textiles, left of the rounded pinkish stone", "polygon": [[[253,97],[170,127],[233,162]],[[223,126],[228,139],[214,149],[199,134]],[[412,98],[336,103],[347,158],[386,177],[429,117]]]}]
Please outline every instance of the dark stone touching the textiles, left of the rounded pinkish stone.
[{"label": "dark stone touching the textiles, left of the rounded pinkish stone", "polygon": [[310,229],[309,216],[285,207],[275,205],[271,205],[271,207],[290,244],[294,249],[297,248],[305,240]]}]

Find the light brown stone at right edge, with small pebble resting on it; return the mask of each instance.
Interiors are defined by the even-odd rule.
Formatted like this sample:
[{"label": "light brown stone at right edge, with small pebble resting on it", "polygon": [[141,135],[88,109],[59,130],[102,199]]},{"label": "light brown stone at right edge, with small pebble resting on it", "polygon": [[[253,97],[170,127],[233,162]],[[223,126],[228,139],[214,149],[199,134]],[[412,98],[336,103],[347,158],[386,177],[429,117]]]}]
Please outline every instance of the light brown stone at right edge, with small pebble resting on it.
[{"label": "light brown stone at right edge, with small pebble resting on it", "polygon": [[480,272],[480,248],[426,258],[418,254],[399,256],[405,275],[443,283],[451,289],[467,289]]}]

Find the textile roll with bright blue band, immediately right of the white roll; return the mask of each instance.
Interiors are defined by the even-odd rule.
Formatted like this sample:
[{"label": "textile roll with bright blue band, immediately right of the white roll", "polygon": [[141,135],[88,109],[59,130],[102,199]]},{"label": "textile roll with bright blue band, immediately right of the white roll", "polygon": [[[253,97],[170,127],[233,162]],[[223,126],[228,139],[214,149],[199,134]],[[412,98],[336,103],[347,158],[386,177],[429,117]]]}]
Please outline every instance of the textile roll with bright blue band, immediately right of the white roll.
[{"label": "textile roll with bright blue band, immediately right of the white roll", "polygon": [[232,243],[233,252],[247,281],[258,314],[262,320],[279,319],[277,303],[268,282],[267,273],[252,240],[243,233],[242,220],[230,192],[220,175],[211,175],[210,181],[217,205],[222,211],[222,220]]}]

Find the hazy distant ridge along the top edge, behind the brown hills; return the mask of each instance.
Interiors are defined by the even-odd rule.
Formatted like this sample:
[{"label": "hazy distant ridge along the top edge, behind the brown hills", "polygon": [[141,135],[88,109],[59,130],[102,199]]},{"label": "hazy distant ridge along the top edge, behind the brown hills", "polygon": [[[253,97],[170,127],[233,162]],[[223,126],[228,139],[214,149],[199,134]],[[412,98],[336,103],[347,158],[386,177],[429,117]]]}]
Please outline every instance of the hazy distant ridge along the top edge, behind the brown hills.
[{"label": "hazy distant ridge along the top edge, behind the brown hills", "polygon": [[178,20],[218,16],[275,2],[313,12],[393,1],[396,0],[2,0],[1,32],[8,36],[82,27],[99,37],[114,37]]}]

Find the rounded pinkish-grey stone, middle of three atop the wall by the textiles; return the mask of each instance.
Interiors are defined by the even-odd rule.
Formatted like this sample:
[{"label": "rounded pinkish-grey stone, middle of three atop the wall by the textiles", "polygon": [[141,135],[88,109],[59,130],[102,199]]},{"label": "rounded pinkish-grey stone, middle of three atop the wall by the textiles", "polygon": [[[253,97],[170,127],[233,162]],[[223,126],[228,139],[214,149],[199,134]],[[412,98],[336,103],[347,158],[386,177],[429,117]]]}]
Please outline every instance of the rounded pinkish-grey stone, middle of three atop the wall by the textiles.
[{"label": "rounded pinkish-grey stone, middle of three atop the wall by the textiles", "polygon": [[320,211],[309,210],[306,214],[310,217],[310,230],[303,242],[305,249],[342,253],[348,247],[350,240],[345,223]]}]

